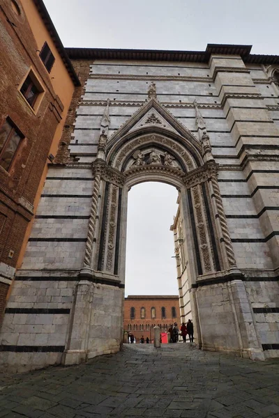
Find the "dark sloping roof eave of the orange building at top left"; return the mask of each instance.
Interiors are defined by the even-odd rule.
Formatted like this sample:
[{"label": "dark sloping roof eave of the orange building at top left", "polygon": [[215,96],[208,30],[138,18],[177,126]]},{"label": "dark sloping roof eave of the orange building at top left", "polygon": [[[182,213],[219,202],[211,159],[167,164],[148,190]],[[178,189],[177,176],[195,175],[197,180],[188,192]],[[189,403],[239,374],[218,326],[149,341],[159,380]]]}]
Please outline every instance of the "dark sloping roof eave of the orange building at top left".
[{"label": "dark sloping roof eave of the orange building at top left", "polygon": [[68,74],[70,75],[70,78],[73,80],[73,83],[75,86],[81,86],[80,79],[77,77],[77,74],[73,68],[73,64],[71,63],[68,54],[66,52],[66,49],[63,46],[63,43],[61,42],[61,39],[59,38],[59,34],[57,33],[55,26],[52,22],[52,19],[47,12],[47,8],[45,7],[45,3],[43,0],[33,0],[38,13],[40,13],[40,17],[42,18],[45,26],[47,27],[47,30],[50,33],[50,36],[52,37],[52,40],[54,41],[54,45],[56,46],[57,51],[59,52],[59,55],[61,56],[61,59],[66,66],[66,69],[68,71]]}]

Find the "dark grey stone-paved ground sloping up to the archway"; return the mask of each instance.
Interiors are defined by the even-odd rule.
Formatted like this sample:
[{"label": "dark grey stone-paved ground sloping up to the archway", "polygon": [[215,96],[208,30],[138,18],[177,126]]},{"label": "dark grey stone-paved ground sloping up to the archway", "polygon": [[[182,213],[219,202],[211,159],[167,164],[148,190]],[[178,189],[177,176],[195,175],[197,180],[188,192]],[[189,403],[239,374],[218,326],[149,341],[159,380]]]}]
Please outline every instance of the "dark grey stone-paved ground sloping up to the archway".
[{"label": "dark grey stone-paved ground sloping up to the archway", "polygon": [[0,378],[0,417],[279,417],[279,362],[135,344],[87,364]]}]

